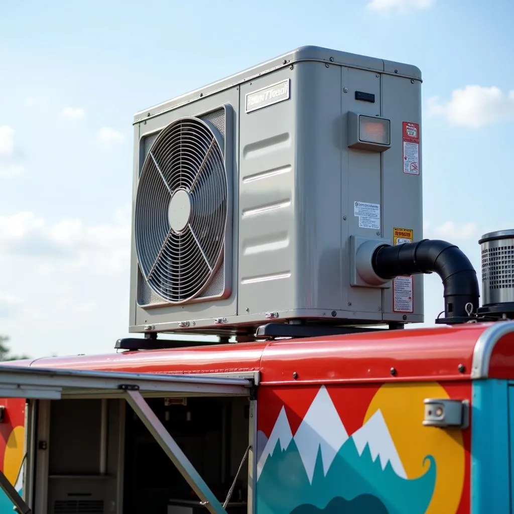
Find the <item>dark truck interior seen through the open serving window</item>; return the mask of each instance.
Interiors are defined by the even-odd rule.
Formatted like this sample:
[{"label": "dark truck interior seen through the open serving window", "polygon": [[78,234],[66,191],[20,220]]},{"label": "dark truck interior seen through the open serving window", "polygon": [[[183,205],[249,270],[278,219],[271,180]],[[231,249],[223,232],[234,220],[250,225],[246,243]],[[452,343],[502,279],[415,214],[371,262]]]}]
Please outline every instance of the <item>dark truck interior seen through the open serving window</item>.
[{"label": "dark truck interior seen through the open serving window", "polygon": [[[146,401],[223,505],[249,444],[248,398]],[[207,512],[126,401],[47,403],[49,514]],[[227,512],[247,512],[247,500],[248,459]]]}]

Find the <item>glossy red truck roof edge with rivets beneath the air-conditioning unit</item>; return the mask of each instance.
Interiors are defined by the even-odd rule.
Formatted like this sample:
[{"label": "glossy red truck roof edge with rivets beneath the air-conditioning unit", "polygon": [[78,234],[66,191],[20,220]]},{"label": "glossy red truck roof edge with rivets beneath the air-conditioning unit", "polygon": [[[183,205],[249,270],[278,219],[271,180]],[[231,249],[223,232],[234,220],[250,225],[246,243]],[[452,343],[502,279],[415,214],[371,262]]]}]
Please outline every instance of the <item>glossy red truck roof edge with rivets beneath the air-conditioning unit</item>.
[{"label": "glossy red truck roof edge with rivets beneath the air-conditioning unit", "polygon": [[514,322],[12,362],[138,373],[260,372],[266,383],[514,378]]}]

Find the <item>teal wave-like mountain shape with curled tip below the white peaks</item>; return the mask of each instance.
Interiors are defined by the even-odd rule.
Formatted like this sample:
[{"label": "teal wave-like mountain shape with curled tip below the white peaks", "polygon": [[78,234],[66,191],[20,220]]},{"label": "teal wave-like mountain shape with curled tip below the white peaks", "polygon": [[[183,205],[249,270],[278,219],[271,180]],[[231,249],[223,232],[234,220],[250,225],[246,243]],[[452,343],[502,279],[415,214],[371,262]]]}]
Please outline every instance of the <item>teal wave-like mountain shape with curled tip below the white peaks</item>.
[{"label": "teal wave-like mountain shape with curled tip below the white peaks", "polygon": [[318,509],[311,510],[314,513],[325,509],[336,498],[348,502],[368,495],[382,504],[382,510],[372,511],[377,514],[423,514],[435,488],[436,463],[431,455],[425,457],[424,467],[427,469],[419,478],[403,479],[389,462],[382,470],[379,458],[373,461],[368,445],[359,455],[350,437],[339,449],[326,476],[318,448],[313,481],[309,483],[295,440],[284,451],[278,442],[257,483],[256,511],[257,514],[291,514],[298,507],[311,506]]}]

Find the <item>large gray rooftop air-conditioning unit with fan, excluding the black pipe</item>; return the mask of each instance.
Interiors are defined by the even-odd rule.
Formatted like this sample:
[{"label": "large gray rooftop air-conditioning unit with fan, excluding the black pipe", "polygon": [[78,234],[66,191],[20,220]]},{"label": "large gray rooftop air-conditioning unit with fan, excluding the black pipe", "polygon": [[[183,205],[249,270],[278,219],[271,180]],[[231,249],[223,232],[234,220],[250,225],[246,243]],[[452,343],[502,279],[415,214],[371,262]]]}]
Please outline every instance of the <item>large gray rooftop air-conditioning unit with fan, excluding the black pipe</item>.
[{"label": "large gray rooftop air-conditioning unit with fan, excluding the black pipe", "polygon": [[423,322],[421,74],[302,47],[135,116],[131,332]]}]

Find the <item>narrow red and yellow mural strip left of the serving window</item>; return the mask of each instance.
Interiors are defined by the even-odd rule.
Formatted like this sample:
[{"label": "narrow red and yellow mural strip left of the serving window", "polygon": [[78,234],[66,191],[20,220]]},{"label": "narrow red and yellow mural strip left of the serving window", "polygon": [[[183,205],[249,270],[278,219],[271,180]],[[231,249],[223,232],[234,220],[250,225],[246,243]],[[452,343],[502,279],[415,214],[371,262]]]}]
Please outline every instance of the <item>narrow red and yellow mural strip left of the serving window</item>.
[{"label": "narrow red and yellow mural strip left of the serving window", "polygon": [[[16,491],[22,493],[23,450],[25,444],[25,400],[1,400],[5,406],[3,422],[0,423],[0,466]],[[0,488],[0,514],[12,514],[13,505]]]}]

